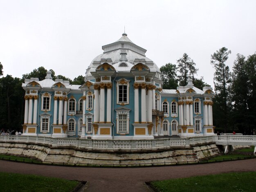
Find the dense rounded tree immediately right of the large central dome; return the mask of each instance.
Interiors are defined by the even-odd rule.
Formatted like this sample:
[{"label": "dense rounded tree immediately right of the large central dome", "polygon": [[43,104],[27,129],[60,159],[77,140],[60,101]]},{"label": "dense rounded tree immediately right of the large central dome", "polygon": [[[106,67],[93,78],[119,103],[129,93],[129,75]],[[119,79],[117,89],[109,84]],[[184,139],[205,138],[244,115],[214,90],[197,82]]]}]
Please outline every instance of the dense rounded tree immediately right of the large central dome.
[{"label": "dense rounded tree immediately right of the large central dome", "polygon": [[160,67],[163,89],[177,89],[178,79],[177,79],[177,68],[176,65],[171,63],[166,63],[164,66]]}]

